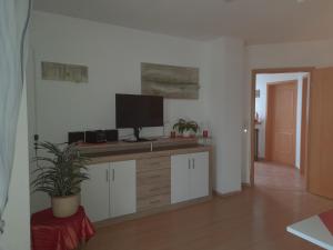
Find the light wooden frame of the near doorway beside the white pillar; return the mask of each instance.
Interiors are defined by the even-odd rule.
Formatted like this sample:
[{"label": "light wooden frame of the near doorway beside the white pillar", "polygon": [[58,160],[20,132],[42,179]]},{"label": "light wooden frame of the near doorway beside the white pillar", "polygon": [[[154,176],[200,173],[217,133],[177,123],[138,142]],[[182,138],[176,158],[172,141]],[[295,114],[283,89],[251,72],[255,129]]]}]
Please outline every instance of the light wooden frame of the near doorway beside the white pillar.
[{"label": "light wooden frame of the near doorway beside the white pillar", "polygon": [[[306,190],[307,190],[307,138],[309,138],[309,121],[310,121],[310,88],[311,88],[311,79],[312,79],[312,72],[315,69],[315,67],[291,67],[291,68],[268,68],[268,69],[254,69],[251,71],[251,113],[250,113],[250,141],[251,141],[251,149],[250,149],[250,186],[254,187],[254,128],[255,128],[255,83],[256,83],[256,74],[268,73],[268,74],[274,74],[274,73],[294,73],[294,72],[306,72],[309,73],[309,84],[307,84],[307,101],[306,101],[306,120],[304,121],[306,124],[306,132],[305,132],[305,150],[304,152],[301,152],[303,154],[303,159],[305,159],[305,166],[301,166],[301,172],[303,169],[303,172],[305,174],[305,183],[306,183]],[[303,106],[303,103],[302,103]],[[302,139],[301,139],[302,140]],[[302,158],[302,156],[301,156]]]}]

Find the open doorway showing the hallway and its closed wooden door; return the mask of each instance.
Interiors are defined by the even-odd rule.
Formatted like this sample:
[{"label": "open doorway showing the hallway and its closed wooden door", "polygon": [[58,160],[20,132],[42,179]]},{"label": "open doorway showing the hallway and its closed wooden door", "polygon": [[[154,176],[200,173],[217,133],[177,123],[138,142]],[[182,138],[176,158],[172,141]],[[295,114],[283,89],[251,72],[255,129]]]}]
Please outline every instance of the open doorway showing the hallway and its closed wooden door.
[{"label": "open doorway showing the hallway and its closed wooden door", "polygon": [[253,71],[251,184],[281,178],[276,183],[294,179],[291,187],[305,188],[311,70]]}]

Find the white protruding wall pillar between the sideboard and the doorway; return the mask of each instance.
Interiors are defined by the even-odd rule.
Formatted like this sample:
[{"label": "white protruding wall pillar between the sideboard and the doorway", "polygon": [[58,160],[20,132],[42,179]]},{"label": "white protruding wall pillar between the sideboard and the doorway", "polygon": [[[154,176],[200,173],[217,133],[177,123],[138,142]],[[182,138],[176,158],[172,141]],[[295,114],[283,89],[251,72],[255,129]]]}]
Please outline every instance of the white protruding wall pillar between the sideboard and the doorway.
[{"label": "white protruding wall pillar between the sideboard and the doorway", "polygon": [[236,39],[218,39],[206,44],[211,82],[205,112],[213,131],[219,193],[241,190],[242,169],[242,82],[244,46]]}]

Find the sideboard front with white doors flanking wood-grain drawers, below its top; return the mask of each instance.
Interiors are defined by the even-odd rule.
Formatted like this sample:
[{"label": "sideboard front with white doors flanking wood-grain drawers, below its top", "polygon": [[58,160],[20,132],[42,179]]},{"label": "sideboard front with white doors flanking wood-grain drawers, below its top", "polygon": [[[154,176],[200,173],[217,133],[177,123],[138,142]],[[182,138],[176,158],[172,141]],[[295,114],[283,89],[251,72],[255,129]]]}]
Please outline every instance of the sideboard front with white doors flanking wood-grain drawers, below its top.
[{"label": "sideboard front with white doors flanking wood-grain drawers, below its top", "polygon": [[209,197],[211,150],[191,150],[93,158],[88,167],[90,180],[81,184],[81,202],[89,218],[94,222],[125,220],[127,214],[142,217]]}]

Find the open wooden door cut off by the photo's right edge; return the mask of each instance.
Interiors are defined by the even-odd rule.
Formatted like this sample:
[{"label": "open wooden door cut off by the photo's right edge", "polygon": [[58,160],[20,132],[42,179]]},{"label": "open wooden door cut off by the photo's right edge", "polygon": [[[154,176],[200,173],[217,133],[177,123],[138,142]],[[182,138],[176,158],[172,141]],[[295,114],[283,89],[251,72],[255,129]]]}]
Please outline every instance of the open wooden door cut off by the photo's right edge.
[{"label": "open wooden door cut off by the photo's right edge", "polygon": [[307,149],[309,191],[333,199],[333,68],[312,74]]}]

